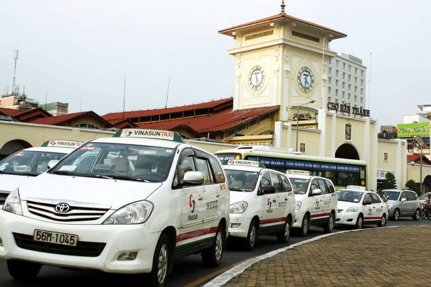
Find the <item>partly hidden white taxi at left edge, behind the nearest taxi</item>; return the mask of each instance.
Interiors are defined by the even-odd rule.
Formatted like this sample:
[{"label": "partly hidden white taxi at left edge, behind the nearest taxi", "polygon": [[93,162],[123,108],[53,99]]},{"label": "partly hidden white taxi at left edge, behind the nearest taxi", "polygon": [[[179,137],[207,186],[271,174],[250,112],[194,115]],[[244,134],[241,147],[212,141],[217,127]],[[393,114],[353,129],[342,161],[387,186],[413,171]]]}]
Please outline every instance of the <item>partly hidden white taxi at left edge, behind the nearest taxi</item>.
[{"label": "partly hidden white taxi at left edge, behind the nearest taxi", "polygon": [[0,206],[20,184],[46,172],[50,161],[59,161],[82,144],[60,139],[46,141],[41,147],[25,148],[0,161]]}]

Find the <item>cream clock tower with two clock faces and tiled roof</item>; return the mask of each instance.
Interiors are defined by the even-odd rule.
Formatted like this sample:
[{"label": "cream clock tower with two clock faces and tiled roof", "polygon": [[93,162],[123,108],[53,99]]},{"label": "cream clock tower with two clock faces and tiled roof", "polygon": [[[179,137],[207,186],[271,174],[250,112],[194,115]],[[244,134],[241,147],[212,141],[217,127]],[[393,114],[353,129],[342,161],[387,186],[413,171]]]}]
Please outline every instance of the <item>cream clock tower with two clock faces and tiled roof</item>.
[{"label": "cream clock tower with two clock faces and tiled roof", "polygon": [[[285,14],[222,29],[235,39],[233,109],[279,106],[277,119],[326,108],[328,42],[344,38],[339,31]],[[308,104],[306,104],[309,102]]]}]

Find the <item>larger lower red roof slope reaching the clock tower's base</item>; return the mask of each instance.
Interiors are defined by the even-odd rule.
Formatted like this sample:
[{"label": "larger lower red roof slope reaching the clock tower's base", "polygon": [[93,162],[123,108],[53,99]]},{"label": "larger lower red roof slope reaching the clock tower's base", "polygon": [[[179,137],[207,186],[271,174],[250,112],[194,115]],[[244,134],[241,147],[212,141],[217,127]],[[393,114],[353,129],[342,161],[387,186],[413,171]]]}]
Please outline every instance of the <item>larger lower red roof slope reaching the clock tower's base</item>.
[{"label": "larger lower red roof slope reaching the clock tower's base", "polygon": [[260,107],[256,109],[242,109],[232,111],[226,109],[219,113],[212,113],[209,115],[200,115],[190,118],[180,118],[175,120],[164,120],[160,122],[145,122],[138,124],[140,128],[157,128],[170,130],[181,124],[186,124],[199,133],[207,133],[213,131],[226,131],[234,126],[243,124],[259,117],[259,115],[266,115],[273,111],[278,111],[279,106]]}]

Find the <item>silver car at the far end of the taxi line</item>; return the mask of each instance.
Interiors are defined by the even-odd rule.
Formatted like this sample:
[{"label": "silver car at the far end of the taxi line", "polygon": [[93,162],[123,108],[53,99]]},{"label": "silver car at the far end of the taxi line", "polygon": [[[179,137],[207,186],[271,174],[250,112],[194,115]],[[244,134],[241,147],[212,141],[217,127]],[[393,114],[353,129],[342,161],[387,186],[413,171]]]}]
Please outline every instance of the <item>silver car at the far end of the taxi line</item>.
[{"label": "silver car at the far end of the taxi line", "polygon": [[389,217],[398,220],[400,217],[421,218],[421,202],[415,191],[408,189],[384,189],[389,207]]}]

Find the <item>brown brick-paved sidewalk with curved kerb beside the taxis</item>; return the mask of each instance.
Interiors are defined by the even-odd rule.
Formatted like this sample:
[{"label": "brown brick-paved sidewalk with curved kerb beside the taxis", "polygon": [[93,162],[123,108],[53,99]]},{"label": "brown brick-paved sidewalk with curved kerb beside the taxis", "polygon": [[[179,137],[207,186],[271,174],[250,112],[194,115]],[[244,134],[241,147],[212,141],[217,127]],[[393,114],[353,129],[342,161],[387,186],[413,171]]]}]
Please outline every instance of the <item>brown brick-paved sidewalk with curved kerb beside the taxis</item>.
[{"label": "brown brick-paved sidewalk with curved kerb beside the taxis", "polygon": [[335,234],[257,262],[225,286],[431,286],[430,245],[428,226]]}]

